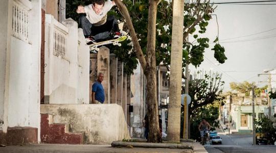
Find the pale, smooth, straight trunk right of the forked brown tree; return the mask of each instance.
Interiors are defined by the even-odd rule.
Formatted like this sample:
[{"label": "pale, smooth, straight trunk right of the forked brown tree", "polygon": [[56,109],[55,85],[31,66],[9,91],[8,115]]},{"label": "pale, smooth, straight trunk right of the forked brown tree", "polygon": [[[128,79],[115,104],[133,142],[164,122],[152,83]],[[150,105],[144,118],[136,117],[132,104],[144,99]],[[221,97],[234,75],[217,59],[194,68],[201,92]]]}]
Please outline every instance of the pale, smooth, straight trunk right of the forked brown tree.
[{"label": "pale, smooth, straight trunk right of the forked brown tree", "polygon": [[182,45],[184,1],[173,1],[170,102],[168,107],[168,141],[180,142],[180,108],[182,79]]}]

